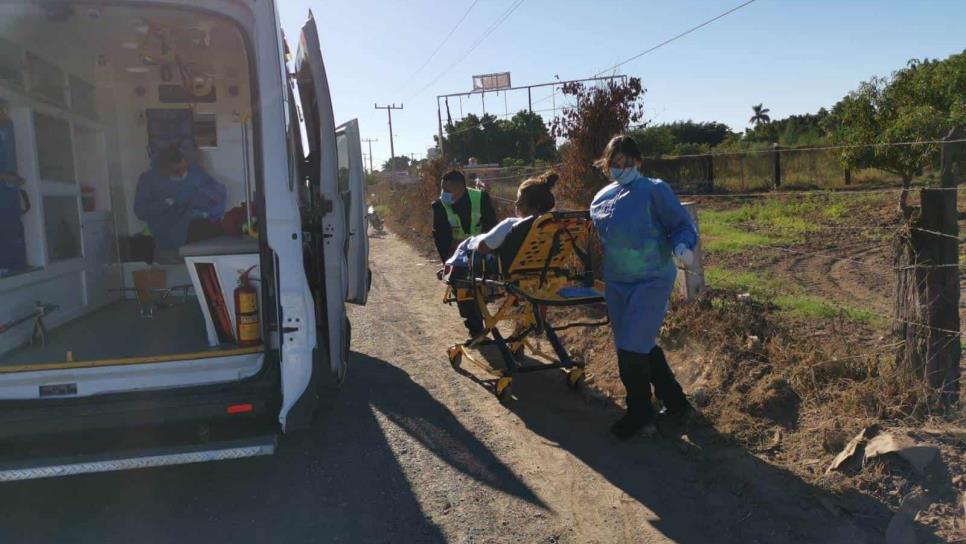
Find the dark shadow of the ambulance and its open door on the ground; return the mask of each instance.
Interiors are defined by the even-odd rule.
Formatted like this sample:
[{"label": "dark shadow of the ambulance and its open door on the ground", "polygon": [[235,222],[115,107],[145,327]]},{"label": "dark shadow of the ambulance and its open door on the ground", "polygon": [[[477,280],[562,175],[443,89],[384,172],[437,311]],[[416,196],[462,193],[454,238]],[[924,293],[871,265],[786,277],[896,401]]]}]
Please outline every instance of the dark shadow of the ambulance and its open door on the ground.
[{"label": "dark shadow of the ambulance and its open door on the ground", "polygon": [[373,410],[446,463],[539,500],[404,371],[353,354],[351,379],[275,456],[0,486],[0,542],[442,542]]}]

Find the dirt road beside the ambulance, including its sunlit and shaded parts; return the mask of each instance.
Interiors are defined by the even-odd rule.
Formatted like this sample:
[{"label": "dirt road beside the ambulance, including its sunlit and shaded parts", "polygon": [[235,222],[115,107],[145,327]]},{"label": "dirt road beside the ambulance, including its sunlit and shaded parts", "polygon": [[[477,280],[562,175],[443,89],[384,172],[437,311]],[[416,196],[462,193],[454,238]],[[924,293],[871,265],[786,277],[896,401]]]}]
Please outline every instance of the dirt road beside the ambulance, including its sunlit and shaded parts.
[{"label": "dirt road beside the ambulance, including its sunlit and shaded parts", "polygon": [[616,442],[548,373],[501,406],[446,360],[435,263],[386,235],[372,266],[345,387],[275,456],[4,485],[0,542],[881,541],[881,510],[834,515],[711,428]]}]

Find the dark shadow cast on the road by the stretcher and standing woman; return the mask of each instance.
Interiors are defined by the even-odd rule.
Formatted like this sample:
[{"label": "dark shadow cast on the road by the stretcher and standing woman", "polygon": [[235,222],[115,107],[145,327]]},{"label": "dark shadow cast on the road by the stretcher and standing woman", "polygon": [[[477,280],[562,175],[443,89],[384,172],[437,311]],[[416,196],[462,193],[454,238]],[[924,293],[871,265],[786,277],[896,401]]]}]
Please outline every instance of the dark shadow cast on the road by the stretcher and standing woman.
[{"label": "dark shadow cast on the road by the stretcher and standing woman", "polygon": [[[499,368],[499,354],[484,349]],[[535,362],[535,361],[528,361]],[[490,380],[471,376],[488,388]],[[609,434],[620,409],[569,391],[561,371],[514,378],[508,407],[538,435],[572,453],[656,515],[651,525],[676,542],[881,542],[888,507],[804,482],[736,446],[706,421],[682,440]],[[494,398],[493,402],[497,402]],[[920,527],[920,535],[925,534]]]}]

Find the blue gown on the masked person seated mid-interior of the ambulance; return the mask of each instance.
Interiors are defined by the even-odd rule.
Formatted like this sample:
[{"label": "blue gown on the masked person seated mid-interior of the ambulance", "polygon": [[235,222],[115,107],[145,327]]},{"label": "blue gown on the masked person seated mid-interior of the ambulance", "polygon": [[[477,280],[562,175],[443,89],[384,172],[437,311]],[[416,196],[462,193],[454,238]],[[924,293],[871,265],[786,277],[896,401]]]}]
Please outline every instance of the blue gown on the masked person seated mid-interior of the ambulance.
[{"label": "blue gown on the masked person seated mid-interior of the ambulance", "polygon": [[134,214],[148,224],[158,247],[176,249],[187,241],[193,220],[219,220],[225,215],[225,199],[225,186],[201,168],[188,168],[183,180],[152,168],[138,179]]}]

